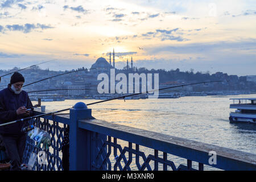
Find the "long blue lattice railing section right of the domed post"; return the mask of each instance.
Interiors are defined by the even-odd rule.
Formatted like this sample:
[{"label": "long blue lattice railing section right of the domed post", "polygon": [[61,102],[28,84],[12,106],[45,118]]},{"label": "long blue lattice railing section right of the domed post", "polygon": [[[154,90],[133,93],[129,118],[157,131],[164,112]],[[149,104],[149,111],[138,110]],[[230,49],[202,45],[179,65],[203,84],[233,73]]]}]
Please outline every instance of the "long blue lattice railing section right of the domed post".
[{"label": "long blue lattice railing section right of the domed post", "polygon": [[[246,152],[98,119],[79,120],[78,126],[90,131],[90,170],[256,169],[256,155]],[[216,163],[209,162],[212,152]]]}]

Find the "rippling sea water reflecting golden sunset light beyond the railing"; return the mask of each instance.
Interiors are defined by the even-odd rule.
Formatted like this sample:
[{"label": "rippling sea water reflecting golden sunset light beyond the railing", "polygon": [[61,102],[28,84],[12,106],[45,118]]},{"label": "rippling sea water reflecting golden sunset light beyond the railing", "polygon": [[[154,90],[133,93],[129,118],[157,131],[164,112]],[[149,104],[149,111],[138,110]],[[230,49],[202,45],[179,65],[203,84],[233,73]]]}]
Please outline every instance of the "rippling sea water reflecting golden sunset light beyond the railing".
[{"label": "rippling sea water reflecting golden sunset light beyond the railing", "polygon": [[[234,111],[229,109],[233,102],[230,98],[256,98],[256,94],[113,100],[88,108],[97,119],[256,154],[256,125],[229,123],[229,113]],[[77,102],[96,101],[65,100],[42,102],[42,105],[47,110],[61,110]],[[178,158],[174,161],[186,164]]]}]

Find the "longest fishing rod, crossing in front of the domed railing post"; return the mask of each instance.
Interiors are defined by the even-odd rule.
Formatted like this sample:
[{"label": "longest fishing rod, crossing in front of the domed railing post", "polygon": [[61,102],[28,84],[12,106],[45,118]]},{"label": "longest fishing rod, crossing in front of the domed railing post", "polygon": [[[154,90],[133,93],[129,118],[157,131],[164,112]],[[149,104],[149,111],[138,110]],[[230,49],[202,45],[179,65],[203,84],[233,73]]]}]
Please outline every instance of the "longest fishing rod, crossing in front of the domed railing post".
[{"label": "longest fishing rod, crossing in front of the domed railing post", "polygon": [[[192,83],[192,84],[184,84],[184,85],[177,85],[177,86],[169,86],[169,87],[166,87],[166,88],[155,89],[155,90],[151,90],[151,91],[139,92],[139,93],[134,93],[134,94],[128,94],[128,95],[126,95],[126,96],[114,97],[114,98],[110,98],[110,99],[103,100],[103,101],[92,102],[92,103],[90,103],[90,104],[87,104],[87,106],[93,105],[93,104],[102,103],[102,102],[108,102],[108,101],[112,101],[112,100],[117,100],[117,99],[119,99],[119,98],[125,98],[125,97],[135,96],[135,95],[138,95],[138,94],[143,94],[143,93],[148,93],[148,92],[154,92],[154,91],[159,91],[159,90],[164,90],[164,89],[176,88],[176,87],[180,87],[180,86],[188,86],[188,85],[196,85],[196,84],[207,84],[207,83],[210,83],[210,82],[223,82],[223,81],[205,81],[205,82],[197,82],[197,83]],[[34,118],[38,118],[38,117],[43,117],[44,115],[51,115],[51,114],[55,114],[55,113],[60,113],[60,112],[62,112],[62,111],[67,111],[67,110],[69,110],[69,109],[72,109],[73,107],[74,107],[74,106],[72,106],[72,107],[70,107],[70,108],[67,108],[67,109],[62,109],[62,110],[58,110],[58,111],[52,111],[51,113],[44,113],[44,114],[39,114],[39,115],[35,115],[35,116],[32,116],[32,117],[27,117],[27,118],[23,118],[23,119],[17,119],[17,120],[12,121],[12,122],[3,123],[3,124],[1,124],[0,126],[10,125],[10,124],[12,124],[12,123],[16,123],[16,122],[20,122],[20,121],[26,121],[26,120],[28,120],[28,119],[34,119]]]}]

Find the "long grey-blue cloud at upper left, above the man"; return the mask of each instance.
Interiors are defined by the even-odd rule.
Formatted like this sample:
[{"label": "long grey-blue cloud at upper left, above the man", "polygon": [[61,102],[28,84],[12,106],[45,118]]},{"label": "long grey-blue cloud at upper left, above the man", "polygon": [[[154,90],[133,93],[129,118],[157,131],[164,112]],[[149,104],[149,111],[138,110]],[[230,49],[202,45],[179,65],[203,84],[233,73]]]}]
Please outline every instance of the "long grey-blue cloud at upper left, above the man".
[{"label": "long grey-blue cloud at upper left, above the man", "polygon": [[35,30],[35,29],[41,28],[42,30],[44,30],[44,29],[53,28],[53,27],[47,26],[45,24],[40,24],[40,23],[38,23],[36,25],[26,23],[24,25],[19,25],[19,24],[10,25],[10,24],[7,24],[6,28],[9,31],[22,31],[24,34],[27,34],[27,33],[31,32],[32,30]]}]

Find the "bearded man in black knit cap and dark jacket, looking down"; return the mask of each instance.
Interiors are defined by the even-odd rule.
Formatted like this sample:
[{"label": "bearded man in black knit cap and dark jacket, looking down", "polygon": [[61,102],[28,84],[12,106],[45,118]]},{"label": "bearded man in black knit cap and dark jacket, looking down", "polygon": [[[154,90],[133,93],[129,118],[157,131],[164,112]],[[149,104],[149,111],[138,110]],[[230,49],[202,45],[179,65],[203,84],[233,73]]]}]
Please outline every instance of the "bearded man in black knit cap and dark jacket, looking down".
[{"label": "bearded man in black knit cap and dark jacket, looking down", "polygon": [[[33,114],[30,98],[27,92],[22,90],[24,82],[24,77],[15,72],[7,88],[0,91],[0,123],[15,121]],[[31,110],[27,110],[29,108]],[[24,122],[0,126],[0,137],[11,160],[11,170],[15,171],[20,170],[26,147],[27,133],[22,132],[23,127]]]}]

